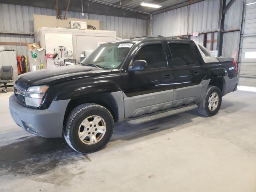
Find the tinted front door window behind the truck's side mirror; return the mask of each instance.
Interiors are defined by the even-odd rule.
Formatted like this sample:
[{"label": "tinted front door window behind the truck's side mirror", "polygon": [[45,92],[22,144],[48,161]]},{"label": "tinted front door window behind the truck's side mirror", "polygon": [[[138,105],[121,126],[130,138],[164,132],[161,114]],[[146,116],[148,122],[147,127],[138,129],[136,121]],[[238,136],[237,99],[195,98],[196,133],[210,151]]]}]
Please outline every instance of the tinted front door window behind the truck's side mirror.
[{"label": "tinted front door window behind the truck's side mirror", "polygon": [[162,44],[145,45],[139,50],[134,60],[145,60],[150,69],[167,67]]}]

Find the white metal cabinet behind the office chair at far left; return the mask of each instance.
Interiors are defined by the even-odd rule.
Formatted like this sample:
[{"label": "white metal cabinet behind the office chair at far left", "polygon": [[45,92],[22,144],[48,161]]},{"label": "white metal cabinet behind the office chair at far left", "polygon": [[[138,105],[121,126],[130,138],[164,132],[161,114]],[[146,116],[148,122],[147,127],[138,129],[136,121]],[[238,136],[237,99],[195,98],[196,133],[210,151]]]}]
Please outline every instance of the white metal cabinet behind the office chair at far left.
[{"label": "white metal cabinet behind the office chair at far left", "polygon": [[[0,68],[5,65],[11,65],[13,67],[13,79],[15,79],[18,76],[17,58],[15,51],[0,52]],[[13,83],[8,83],[7,85],[13,85]]]}]

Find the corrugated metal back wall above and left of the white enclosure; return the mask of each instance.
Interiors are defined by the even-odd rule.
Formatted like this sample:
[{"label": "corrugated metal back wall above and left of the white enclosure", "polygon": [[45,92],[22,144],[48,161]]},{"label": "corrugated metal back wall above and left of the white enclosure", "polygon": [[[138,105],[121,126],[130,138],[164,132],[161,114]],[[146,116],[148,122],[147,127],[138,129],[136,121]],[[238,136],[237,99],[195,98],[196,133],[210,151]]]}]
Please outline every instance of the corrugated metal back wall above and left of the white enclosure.
[{"label": "corrugated metal back wall above and left of the white enclosure", "polygon": [[[0,32],[31,34],[34,31],[33,14],[56,16],[56,10],[13,4],[0,4]],[[64,14],[62,11],[60,14]],[[146,35],[146,20],[86,14],[88,19],[100,20],[101,30],[115,30],[117,37],[131,38]],[[67,16],[86,19],[80,12],[68,11]],[[29,35],[0,34],[0,42],[34,42]],[[26,46],[6,45],[5,49],[12,49],[16,54],[26,54]]]}]

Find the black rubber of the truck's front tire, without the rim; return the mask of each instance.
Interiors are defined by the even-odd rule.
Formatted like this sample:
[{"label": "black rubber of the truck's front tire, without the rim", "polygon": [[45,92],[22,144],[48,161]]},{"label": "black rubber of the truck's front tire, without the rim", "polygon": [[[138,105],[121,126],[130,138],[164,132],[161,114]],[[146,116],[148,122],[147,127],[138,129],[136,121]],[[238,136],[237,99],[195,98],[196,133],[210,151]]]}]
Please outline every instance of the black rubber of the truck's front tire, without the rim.
[{"label": "black rubber of the truck's front tire, without the rim", "polygon": [[[78,136],[78,131],[82,121],[92,115],[100,116],[106,122],[106,132],[104,136],[95,144],[85,144]],[[114,120],[111,113],[101,105],[94,103],[82,104],[74,108],[66,122],[64,138],[68,145],[80,153],[91,153],[98,151],[110,141],[114,131]]]}]

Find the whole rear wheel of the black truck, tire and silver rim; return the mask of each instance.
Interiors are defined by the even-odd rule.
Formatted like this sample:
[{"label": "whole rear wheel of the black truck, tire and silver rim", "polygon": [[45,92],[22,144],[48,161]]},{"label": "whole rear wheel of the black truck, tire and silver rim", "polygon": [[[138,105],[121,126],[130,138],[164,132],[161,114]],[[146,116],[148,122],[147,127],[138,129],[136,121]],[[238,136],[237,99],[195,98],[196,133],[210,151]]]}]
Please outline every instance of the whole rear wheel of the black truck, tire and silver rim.
[{"label": "whole rear wheel of the black truck, tire and silver rim", "polygon": [[222,94],[218,87],[208,86],[204,100],[198,104],[198,112],[203,116],[214,116],[218,113],[222,102]]}]

